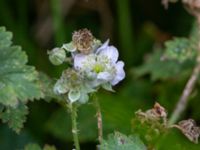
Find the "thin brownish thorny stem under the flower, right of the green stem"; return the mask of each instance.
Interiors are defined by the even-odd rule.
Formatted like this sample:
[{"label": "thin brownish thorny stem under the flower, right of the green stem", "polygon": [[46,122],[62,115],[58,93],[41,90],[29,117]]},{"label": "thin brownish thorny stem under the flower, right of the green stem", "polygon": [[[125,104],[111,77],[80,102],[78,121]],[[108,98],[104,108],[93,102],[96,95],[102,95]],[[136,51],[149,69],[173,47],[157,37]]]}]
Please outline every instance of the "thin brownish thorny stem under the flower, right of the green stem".
[{"label": "thin brownish thorny stem under the flower, right of the green stem", "polygon": [[99,144],[101,144],[103,140],[102,114],[101,114],[101,107],[96,96],[94,96],[94,105],[97,111],[96,117],[97,117],[97,127],[98,127],[98,140]]}]

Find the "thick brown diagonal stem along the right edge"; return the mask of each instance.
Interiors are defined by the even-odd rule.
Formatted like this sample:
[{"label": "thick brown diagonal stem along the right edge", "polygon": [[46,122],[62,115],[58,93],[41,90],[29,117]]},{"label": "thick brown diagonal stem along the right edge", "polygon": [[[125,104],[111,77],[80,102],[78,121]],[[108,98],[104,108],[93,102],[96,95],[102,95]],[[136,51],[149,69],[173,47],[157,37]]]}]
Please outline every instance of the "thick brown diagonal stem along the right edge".
[{"label": "thick brown diagonal stem along the right edge", "polygon": [[[200,21],[198,20],[198,32],[200,32]],[[199,35],[199,39],[200,39],[200,33],[198,33]],[[193,72],[182,92],[182,95],[171,115],[171,118],[169,120],[169,125],[174,124],[179,117],[181,116],[182,112],[185,110],[187,103],[189,101],[189,96],[191,95],[195,83],[197,82],[197,79],[199,77],[199,73],[200,73],[200,44],[198,43],[197,45],[197,50],[198,50],[198,54],[197,54],[197,59],[196,59],[196,65],[193,69]]]}]

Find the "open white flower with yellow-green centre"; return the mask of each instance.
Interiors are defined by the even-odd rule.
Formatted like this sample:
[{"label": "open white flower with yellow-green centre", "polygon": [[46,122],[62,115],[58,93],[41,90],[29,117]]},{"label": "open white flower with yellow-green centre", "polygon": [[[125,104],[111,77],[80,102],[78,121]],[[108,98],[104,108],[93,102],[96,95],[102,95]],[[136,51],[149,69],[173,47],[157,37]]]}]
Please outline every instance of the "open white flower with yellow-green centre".
[{"label": "open white flower with yellow-green centre", "polygon": [[125,78],[124,62],[118,61],[119,53],[108,40],[94,53],[74,56],[74,68],[91,81],[93,87],[110,83],[116,85]]}]

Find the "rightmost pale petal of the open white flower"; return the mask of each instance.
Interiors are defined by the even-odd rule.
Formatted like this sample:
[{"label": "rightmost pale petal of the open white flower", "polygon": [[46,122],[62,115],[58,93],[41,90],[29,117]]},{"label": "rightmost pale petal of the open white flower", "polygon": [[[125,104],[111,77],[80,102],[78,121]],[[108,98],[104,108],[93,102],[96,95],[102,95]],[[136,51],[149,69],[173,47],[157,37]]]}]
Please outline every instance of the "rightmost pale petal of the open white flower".
[{"label": "rightmost pale petal of the open white flower", "polygon": [[123,80],[125,78],[124,62],[118,61],[117,64],[115,65],[115,67],[116,67],[116,76],[111,81],[112,85],[116,85],[117,83],[119,83],[121,80]]}]

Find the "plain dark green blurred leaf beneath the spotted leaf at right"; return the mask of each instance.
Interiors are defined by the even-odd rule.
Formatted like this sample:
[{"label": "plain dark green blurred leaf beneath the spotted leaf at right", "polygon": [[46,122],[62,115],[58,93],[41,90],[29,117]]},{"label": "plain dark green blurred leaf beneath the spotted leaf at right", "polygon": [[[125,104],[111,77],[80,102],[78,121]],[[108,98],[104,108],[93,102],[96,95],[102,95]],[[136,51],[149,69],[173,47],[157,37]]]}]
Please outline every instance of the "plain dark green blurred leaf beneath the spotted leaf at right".
[{"label": "plain dark green blurred leaf beneath the spotted leaf at right", "polygon": [[142,66],[134,69],[136,77],[150,74],[153,81],[177,78],[177,76],[180,78],[181,75],[188,73],[188,70],[190,71],[194,65],[194,61],[188,60],[184,63],[180,63],[176,60],[162,59],[162,56],[160,50],[149,55]]}]

